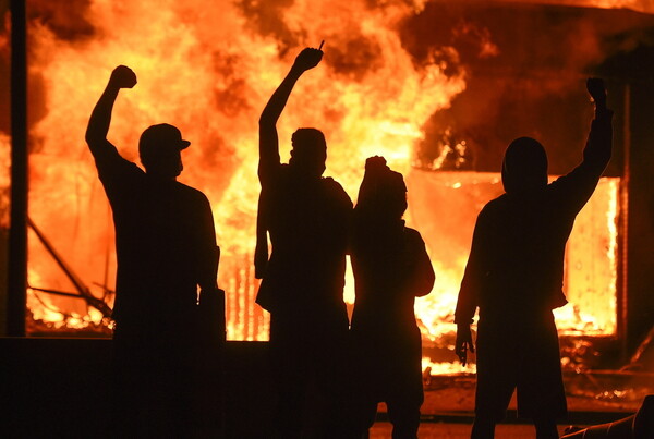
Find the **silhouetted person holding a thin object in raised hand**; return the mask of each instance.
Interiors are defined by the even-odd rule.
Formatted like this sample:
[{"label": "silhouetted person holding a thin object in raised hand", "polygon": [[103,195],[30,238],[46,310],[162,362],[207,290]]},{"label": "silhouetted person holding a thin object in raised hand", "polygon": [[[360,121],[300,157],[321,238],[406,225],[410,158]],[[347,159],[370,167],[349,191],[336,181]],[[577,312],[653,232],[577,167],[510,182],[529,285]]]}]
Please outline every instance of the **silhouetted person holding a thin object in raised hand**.
[{"label": "silhouetted person holding a thin object in raised hand", "polygon": [[318,49],[304,49],[259,119],[255,265],[263,281],[256,302],[270,312],[275,428],[281,438],[337,438],[342,427],[339,368],[348,336],[343,285],[352,202],[340,184],[322,178],[327,146],[320,131],[295,131],[291,159],[281,164],[276,127],[295,82],[322,57]]}]

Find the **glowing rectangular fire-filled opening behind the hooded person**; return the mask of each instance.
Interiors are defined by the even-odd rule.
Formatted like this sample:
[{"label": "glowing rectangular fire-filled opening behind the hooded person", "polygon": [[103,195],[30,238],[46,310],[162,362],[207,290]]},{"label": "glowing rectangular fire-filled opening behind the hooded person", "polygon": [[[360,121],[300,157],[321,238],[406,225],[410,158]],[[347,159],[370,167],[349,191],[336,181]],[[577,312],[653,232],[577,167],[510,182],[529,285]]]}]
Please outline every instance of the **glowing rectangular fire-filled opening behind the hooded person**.
[{"label": "glowing rectangular fire-filled opening behind the hooded person", "polygon": [[[410,216],[421,231],[434,270],[432,294],[416,300],[423,339],[456,332],[453,312],[476,216],[500,195],[499,173],[413,171],[408,179]],[[559,333],[616,333],[617,196],[619,179],[603,178],[579,214],[566,253],[565,291],[555,310]]]}]

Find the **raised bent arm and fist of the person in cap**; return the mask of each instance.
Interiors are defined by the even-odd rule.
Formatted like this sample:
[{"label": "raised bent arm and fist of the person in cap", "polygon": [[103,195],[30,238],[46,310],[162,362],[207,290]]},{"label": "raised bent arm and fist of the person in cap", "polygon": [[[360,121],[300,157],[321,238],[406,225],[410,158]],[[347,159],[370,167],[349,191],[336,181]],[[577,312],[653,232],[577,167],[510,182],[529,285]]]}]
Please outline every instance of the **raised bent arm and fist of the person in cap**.
[{"label": "raised bent arm and fist of the person in cap", "polygon": [[107,133],[111,123],[111,111],[113,110],[113,102],[116,102],[118,92],[121,88],[132,88],[134,85],[136,85],[136,75],[134,72],[124,65],[119,65],[111,73],[105,92],[93,109],[88,126],[86,127],[86,143],[96,159],[118,156],[116,146],[107,141]]}]

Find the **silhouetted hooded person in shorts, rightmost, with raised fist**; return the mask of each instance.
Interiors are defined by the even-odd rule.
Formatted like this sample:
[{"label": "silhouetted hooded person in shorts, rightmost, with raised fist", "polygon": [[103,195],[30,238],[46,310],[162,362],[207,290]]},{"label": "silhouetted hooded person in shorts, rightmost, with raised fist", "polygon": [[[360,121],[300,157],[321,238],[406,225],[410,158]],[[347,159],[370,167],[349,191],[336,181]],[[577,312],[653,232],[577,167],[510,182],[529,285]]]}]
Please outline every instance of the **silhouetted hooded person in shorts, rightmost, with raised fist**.
[{"label": "silhouetted hooded person in shorts, rightmost, with raised fist", "polygon": [[513,390],[518,414],[532,418],[536,436],[558,438],[556,419],[567,414],[557,330],[552,309],[562,292],[566,242],[577,214],[589,200],[611,154],[611,115],[602,80],[588,89],[595,119],[583,161],[547,184],[547,156],[529,137],[506,150],[506,194],[477,217],[456,310],[456,351],[474,352],[470,325],[480,308],[477,385],[473,438],[492,438]]}]

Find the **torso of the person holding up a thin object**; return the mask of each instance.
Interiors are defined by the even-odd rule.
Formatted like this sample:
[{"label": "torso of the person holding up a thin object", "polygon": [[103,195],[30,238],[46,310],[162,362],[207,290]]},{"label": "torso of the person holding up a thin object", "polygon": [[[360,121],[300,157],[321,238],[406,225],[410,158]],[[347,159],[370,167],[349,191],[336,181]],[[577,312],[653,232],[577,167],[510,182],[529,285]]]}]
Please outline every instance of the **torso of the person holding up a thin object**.
[{"label": "torso of the person holding up a thin object", "polygon": [[352,208],[342,187],[329,178],[304,179],[280,164],[262,204],[272,253],[257,303],[295,310],[342,306]]}]

